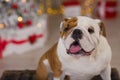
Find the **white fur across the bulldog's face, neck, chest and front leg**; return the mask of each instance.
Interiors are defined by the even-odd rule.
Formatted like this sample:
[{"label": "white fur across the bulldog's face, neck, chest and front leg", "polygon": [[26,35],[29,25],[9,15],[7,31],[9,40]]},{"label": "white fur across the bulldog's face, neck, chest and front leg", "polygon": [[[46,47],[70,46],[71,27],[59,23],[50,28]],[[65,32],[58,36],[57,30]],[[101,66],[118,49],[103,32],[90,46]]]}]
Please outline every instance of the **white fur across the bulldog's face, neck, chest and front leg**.
[{"label": "white fur across the bulldog's face, neck, chest and front leg", "polygon": [[[103,80],[111,80],[111,48],[106,38],[99,34],[100,29],[95,20],[87,17],[78,18],[80,18],[78,19],[78,27],[84,31],[84,35],[87,38],[83,39],[80,43],[84,45],[87,42],[87,47],[83,46],[84,49],[89,51],[89,49],[91,50],[95,47],[95,50],[90,56],[73,57],[66,53],[66,48],[68,48],[73,41],[70,38],[71,34],[66,40],[60,38],[57,46],[57,53],[62,63],[63,73],[65,75],[70,75],[71,80],[90,80],[98,74],[102,76]],[[87,27],[90,25],[95,28],[95,34],[92,36],[86,32]]]}]

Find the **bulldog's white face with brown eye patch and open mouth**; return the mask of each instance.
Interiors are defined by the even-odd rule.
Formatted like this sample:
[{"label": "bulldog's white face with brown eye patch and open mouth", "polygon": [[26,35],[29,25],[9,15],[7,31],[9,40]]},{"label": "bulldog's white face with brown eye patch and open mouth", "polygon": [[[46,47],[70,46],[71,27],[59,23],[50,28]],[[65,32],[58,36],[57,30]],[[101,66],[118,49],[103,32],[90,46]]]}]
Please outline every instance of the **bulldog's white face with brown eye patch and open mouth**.
[{"label": "bulldog's white face with brown eye patch and open mouth", "polygon": [[69,55],[90,55],[104,35],[101,21],[88,17],[65,19],[60,25],[60,35]]}]

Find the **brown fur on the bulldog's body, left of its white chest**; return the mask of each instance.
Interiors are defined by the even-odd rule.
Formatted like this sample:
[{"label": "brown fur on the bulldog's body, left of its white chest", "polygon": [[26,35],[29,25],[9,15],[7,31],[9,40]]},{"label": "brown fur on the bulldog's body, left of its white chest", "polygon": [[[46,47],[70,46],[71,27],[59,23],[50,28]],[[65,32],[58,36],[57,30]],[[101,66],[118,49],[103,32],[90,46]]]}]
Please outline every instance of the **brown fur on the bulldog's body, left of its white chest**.
[{"label": "brown fur on the bulldog's body, left of its white chest", "polygon": [[61,62],[57,55],[57,43],[50,48],[41,58],[36,70],[37,80],[48,80],[48,72],[43,61],[48,60],[50,68],[53,71],[54,77],[60,77],[61,71]]}]

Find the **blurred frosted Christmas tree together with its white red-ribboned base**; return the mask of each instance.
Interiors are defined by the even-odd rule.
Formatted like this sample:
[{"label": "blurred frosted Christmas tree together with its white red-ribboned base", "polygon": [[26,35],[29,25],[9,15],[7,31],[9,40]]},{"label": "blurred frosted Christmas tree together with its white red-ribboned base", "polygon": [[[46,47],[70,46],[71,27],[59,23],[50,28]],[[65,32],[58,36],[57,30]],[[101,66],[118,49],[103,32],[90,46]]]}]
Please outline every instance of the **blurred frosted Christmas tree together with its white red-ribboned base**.
[{"label": "blurred frosted Christmas tree together with its white red-ribboned base", "polygon": [[41,0],[0,0],[0,58],[43,46],[46,18]]}]

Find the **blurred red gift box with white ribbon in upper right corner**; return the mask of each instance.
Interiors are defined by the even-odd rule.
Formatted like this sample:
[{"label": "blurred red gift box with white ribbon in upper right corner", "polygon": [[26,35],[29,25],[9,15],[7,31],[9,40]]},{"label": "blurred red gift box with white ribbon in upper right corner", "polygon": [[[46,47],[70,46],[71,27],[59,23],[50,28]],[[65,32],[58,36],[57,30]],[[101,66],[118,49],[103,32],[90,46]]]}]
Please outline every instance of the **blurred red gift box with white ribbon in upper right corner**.
[{"label": "blurred red gift box with white ribbon in upper right corner", "polygon": [[117,16],[117,1],[101,1],[98,3],[98,8],[101,18],[115,18]]}]

